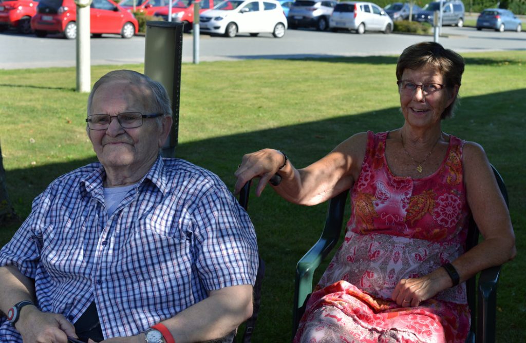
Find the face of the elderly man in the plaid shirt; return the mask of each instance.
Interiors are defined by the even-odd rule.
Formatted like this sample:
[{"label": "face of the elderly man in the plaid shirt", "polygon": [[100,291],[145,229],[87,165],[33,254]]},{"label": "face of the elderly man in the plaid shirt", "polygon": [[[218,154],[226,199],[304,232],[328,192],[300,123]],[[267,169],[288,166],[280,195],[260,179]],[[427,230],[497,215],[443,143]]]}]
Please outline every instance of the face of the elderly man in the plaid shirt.
[{"label": "face of the elderly man in the plaid shirt", "polygon": [[[100,86],[92,101],[88,115],[116,116],[122,112],[150,114],[146,99],[151,92],[146,87],[131,85],[129,81],[111,81]],[[151,167],[168,135],[171,118],[164,117],[159,124],[155,118],[143,119],[143,125],[123,129],[117,118],[112,118],[107,130],[87,130],[93,150],[108,171],[126,169],[126,173]],[[144,175],[139,175],[139,177]]]}]

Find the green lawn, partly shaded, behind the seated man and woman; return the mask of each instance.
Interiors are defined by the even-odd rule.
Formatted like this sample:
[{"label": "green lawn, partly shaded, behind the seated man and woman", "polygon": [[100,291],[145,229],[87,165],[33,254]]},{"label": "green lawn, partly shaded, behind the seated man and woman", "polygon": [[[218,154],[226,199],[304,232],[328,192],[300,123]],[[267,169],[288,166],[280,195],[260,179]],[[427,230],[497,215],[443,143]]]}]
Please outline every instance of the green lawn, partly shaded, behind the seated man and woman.
[{"label": "green lawn, partly shaded, behind the seated man and woman", "polygon": [[[502,271],[498,341],[526,341],[526,51],[464,57],[461,106],[443,130],[482,144],[507,183],[518,256]],[[394,56],[184,64],[177,157],[214,171],[232,189],[244,153],[277,148],[302,167],[353,133],[398,128],[395,64]],[[92,80],[113,69],[92,67]],[[0,70],[4,167],[22,218],[50,181],[95,159],[85,132],[87,95],[74,88],[74,68]],[[317,240],[325,209],[292,205],[270,189],[252,195],[249,214],[267,265],[255,342],[290,338],[295,265]],[[0,230],[0,246],[16,227]]]}]

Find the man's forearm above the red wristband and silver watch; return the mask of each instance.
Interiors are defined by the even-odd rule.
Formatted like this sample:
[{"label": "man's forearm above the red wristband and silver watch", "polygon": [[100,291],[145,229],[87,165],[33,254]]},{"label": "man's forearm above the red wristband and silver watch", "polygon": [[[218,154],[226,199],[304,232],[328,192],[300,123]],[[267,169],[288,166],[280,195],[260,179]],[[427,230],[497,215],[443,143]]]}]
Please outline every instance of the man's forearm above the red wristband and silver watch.
[{"label": "man's forearm above the red wristband and silver watch", "polygon": [[203,301],[162,323],[177,343],[201,342],[228,335],[252,314],[252,286],[210,292]]}]

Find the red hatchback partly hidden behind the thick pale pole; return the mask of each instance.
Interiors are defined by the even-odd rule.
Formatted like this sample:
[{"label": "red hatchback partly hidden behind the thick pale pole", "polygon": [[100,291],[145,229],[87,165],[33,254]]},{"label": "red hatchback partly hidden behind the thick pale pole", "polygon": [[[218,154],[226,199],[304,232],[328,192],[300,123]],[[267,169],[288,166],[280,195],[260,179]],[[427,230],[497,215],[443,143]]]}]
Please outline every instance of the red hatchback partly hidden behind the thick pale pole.
[{"label": "red hatchback partly hidden behind the thick pale pole", "polygon": [[[31,28],[37,37],[48,33],[63,33],[68,39],[77,37],[77,11],[73,0],[40,0],[37,14],[31,19]],[[94,37],[102,34],[119,34],[133,37],[139,29],[134,15],[113,0],[93,0],[89,9],[90,32]]]}]

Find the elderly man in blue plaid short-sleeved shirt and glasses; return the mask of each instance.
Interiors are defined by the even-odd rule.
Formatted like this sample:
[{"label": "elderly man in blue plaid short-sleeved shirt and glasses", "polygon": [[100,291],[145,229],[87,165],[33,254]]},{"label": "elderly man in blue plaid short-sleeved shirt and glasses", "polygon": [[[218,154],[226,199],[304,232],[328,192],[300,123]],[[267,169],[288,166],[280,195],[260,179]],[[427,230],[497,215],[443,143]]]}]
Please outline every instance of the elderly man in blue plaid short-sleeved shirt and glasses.
[{"label": "elderly man in blue plaid short-sleeved shirt and glasses", "polygon": [[166,90],[109,72],[86,121],[100,163],[53,181],[0,251],[0,341],[228,336],[252,313],[254,227],[216,175],[159,156]]}]

